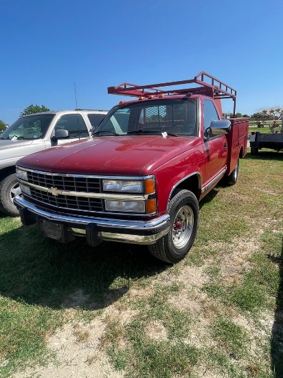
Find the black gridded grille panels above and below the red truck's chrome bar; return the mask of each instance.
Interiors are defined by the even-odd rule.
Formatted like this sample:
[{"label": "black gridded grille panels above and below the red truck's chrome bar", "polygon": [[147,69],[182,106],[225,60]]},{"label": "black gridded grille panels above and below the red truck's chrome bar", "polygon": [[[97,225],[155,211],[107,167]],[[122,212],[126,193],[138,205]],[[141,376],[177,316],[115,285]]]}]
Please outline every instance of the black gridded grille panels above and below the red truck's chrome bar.
[{"label": "black gridded grille panels above and below the red truck's chrome bar", "polygon": [[[27,181],[30,184],[43,188],[56,188],[70,192],[100,193],[100,179],[95,177],[52,175],[50,173],[28,171]],[[84,212],[103,211],[102,199],[89,198],[87,195],[84,197],[65,194],[53,195],[51,192],[45,192],[33,187],[30,187],[30,193],[31,197],[36,201],[47,203],[56,208],[80,210]]]}]

